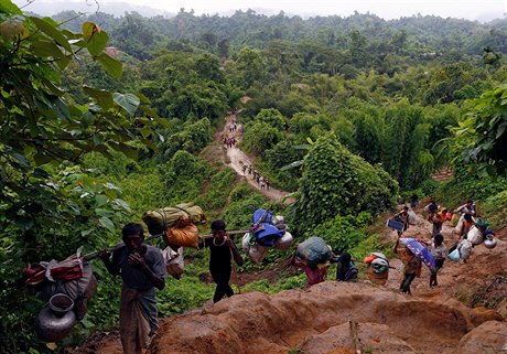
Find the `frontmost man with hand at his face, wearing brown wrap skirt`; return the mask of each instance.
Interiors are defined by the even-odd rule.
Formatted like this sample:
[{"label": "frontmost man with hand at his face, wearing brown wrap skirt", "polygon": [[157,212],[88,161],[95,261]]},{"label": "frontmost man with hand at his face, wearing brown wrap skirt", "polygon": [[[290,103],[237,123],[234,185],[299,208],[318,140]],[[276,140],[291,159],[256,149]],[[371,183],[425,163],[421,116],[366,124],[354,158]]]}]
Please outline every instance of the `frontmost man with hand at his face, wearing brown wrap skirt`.
[{"label": "frontmost man with hand at his face, wearing brown wrap skirt", "polygon": [[141,354],[158,330],[155,289],[165,286],[165,265],[159,248],[144,244],[144,229],[137,223],[121,230],[125,247],[99,251],[107,270],[122,279],[120,337],[125,354]]}]

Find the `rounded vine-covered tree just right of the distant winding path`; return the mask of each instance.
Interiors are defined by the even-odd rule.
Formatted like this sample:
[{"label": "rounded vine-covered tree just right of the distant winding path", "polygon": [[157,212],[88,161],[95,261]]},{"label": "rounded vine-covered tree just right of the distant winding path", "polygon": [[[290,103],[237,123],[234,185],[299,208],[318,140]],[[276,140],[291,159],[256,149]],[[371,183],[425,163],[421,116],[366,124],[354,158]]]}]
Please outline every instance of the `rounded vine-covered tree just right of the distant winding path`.
[{"label": "rounded vine-covered tree just right of the distant winding path", "polygon": [[398,184],[379,167],[350,153],[330,133],[315,141],[303,160],[295,221],[300,232],[336,215],[393,206]]}]

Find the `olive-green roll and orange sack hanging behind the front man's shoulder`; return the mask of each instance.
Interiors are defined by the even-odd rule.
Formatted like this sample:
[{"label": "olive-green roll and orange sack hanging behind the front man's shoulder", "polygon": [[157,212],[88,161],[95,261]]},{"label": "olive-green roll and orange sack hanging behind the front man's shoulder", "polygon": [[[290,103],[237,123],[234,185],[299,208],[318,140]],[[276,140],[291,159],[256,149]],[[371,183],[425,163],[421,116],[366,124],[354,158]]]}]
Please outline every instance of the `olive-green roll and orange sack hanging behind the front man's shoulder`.
[{"label": "olive-green roll and orange sack hanging behind the front man's shoulder", "polygon": [[183,273],[183,247],[198,248],[198,228],[206,223],[201,206],[183,203],[175,206],[145,212],[142,221],[151,235],[162,235],[165,248],[162,250],[168,273],[180,279]]}]

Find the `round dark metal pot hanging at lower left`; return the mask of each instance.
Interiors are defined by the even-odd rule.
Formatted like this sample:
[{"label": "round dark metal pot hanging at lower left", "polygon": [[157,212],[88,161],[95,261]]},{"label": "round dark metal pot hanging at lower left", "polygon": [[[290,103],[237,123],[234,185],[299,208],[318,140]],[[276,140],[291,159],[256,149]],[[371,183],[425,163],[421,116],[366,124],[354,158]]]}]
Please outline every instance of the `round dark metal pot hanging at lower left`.
[{"label": "round dark metal pot hanging at lower left", "polygon": [[50,299],[35,320],[35,333],[42,341],[58,342],[67,336],[77,322],[73,311],[74,301],[64,293],[56,293]]}]

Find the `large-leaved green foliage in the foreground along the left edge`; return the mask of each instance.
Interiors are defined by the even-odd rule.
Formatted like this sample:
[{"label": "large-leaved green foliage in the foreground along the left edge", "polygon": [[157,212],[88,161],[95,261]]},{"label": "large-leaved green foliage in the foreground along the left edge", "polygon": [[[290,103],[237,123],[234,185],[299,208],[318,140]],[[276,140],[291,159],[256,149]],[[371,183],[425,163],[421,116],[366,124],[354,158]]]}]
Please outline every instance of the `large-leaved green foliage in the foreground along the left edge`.
[{"label": "large-leaved green foliage in the foreground along the left edge", "polygon": [[[140,141],[155,148],[152,127],[159,118],[138,115],[140,98],[84,87],[89,105],[79,106],[61,86],[60,71],[89,55],[111,75],[121,64],[104,53],[106,32],[85,22],[82,33],[62,30],[48,18],[29,17],[10,0],[0,2],[0,276],[2,289],[18,278],[23,262],[63,259],[78,246],[95,249],[117,236],[130,214],[120,191],[83,170],[83,157],[116,150],[134,158]],[[32,298],[0,292],[0,352],[33,352]],[[26,307],[31,311],[36,307]],[[21,341],[20,341],[21,343]],[[37,351],[35,351],[37,352]]]}]

